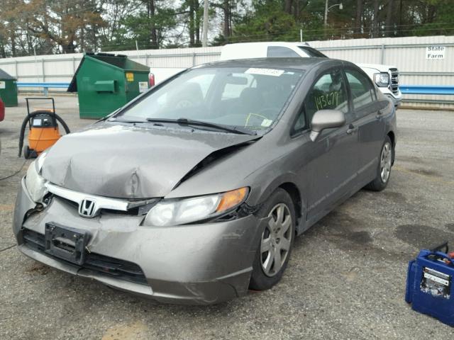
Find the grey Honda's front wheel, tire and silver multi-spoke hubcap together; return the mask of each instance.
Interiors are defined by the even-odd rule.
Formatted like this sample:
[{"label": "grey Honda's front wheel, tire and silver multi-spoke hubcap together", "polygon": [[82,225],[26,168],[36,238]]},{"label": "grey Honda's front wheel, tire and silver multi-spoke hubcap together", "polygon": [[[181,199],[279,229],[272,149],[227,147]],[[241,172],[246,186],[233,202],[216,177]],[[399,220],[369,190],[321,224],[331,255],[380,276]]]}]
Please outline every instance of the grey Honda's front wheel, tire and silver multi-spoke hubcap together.
[{"label": "grey Honda's front wheel, tire and silver multi-spoke hubcap together", "polygon": [[253,263],[250,289],[266,290],[279,282],[289,262],[295,235],[295,212],[292,198],[278,188],[258,212],[270,217],[262,230]]}]

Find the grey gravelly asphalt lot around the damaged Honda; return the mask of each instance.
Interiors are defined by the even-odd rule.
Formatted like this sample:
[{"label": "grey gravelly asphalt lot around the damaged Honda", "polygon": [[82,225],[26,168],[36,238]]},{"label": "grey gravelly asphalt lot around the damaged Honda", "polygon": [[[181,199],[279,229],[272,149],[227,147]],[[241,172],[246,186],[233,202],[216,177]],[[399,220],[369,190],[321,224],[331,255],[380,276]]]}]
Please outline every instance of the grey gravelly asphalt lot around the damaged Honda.
[{"label": "grey gravelly asphalt lot around the damaged Honda", "polygon": [[[56,104],[72,130],[92,123],[74,97]],[[0,178],[23,164],[25,113],[20,98],[0,123]],[[454,245],[454,113],[400,110],[397,121],[385,191],[360,191],[299,237],[272,290],[209,307],[160,305],[21,255],[11,232],[20,176],[0,181],[0,339],[453,339],[404,293],[419,249]]]}]

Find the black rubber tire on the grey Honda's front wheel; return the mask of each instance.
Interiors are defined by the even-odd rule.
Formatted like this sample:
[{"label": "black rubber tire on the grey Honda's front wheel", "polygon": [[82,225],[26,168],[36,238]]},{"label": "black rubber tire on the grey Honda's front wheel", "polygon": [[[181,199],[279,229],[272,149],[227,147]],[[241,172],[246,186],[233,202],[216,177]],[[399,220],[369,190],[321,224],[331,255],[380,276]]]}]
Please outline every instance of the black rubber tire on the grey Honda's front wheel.
[{"label": "black rubber tire on the grey Honda's front wheel", "polygon": [[[286,229],[286,232],[283,232],[283,234],[280,237],[273,239],[273,241],[274,241],[274,245],[272,246],[273,250],[270,250],[263,254],[261,251],[263,237],[267,236],[267,238],[265,239],[265,241],[266,241],[267,239],[276,237],[277,234],[275,233],[272,236],[272,232],[270,232],[270,229],[272,229],[272,228],[270,226],[265,226],[265,228],[261,231],[262,236],[260,237],[258,249],[255,254],[255,259],[254,259],[254,263],[253,263],[253,273],[251,275],[250,283],[249,283],[249,288],[252,290],[267,290],[267,289],[272,288],[272,286],[275,285],[276,283],[278,283],[279,280],[282,278],[282,274],[284,273],[285,268],[287,268],[287,263],[289,262],[290,254],[292,253],[292,246],[293,246],[294,237],[295,237],[296,220],[295,220],[294,204],[293,204],[292,198],[290,197],[289,193],[287,193],[287,191],[285,191],[282,188],[277,188],[271,194],[270,198],[268,198],[265,201],[265,204],[262,205],[262,208],[260,208],[260,210],[258,211],[258,216],[260,218],[267,217],[268,215],[270,215],[271,212],[277,212],[277,210],[279,210],[279,207],[282,208],[282,211],[284,213],[284,217],[283,217],[282,221],[283,222],[287,221],[287,217],[291,217],[292,220],[290,221],[290,225],[287,227],[288,229]],[[286,210],[284,207],[287,207],[288,210]],[[287,212],[288,212],[288,214],[287,214]],[[277,215],[276,215],[276,219],[274,216],[275,215],[273,215],[273,217],[272,217],[273,221],[277,220]],[[288,223],[285,223],[285,224],[288,225]],[[282,225],[284,225],[284,223],[282,223]],[[280,229],[280,227],[277,229]],[[284,230],[284,227],[282,230]],[[282,255],[285,256],[284,261],[281,262],[282,266],[280,266],[280,268],[279,268],[279,266],[277,266],[277,268],[279,268],[279,270],[276,270],[275,273],[270,273],[270,272],[272,272],[272,268],[269,269],[269,271],[270,271],[269,273],[265,273],[265,268],[263,268],[263,266],[262,266],[262,259],[264,259],[264,257],[262,257],[262,256],[265,256],[265,258],[267,258],[267,256],[265,254],[269,254],[269,256],[271,256],[272,251],[277,251],[275,249],[277,249],[278,246],[284,246],[284,244],[286,244],[286,245],[289,244],[289,249],[285,250],[285,249],[279,248],[279,250],[278,250],[279,254],[280,254],[279,256],[282,256]],[[273,254],[276,254],[276,253],[273,253]],[[281,259],[282,259],[282,257],[281,257]],[[273,263],[272,267],[274,267],[275,261],[273,260],[272,263]]]}]

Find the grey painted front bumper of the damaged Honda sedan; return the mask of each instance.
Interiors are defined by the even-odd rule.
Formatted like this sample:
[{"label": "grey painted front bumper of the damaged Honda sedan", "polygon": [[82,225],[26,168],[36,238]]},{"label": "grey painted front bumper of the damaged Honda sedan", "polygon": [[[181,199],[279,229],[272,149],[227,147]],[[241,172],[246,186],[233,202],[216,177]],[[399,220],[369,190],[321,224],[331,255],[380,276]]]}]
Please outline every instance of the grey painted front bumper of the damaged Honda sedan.
[{"label": "grey painted front bumper of the damaged Honda sedan", "polygon": [[[260,230],[267,222],[248,215],[227,222],[141,227],[140,216],[112,212],[91,219],[80,217],[74,205],[58,197],[43,211],[33,212],[34,208],[22,180],[13,232],[23,254],[120,290],[187,304],[217,303],[247,293]],[[28,242],[28,236],[24,238],[24,234],[42,237],[50,222],[88,232],[89,254],[102,256],[103,261],[135,264],[143,273],[143,282],[57,259]]]}]

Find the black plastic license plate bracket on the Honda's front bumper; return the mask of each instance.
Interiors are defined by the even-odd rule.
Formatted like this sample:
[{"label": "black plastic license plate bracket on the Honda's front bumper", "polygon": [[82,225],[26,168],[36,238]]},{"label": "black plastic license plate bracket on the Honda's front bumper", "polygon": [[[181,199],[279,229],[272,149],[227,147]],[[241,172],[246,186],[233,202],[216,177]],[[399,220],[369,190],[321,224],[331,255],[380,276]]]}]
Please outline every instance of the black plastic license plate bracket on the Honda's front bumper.
[{"label": "black plastic license plate bracket on the Honda's front bumper", "polygon": [[45,252],[71,263],[82,265],[89,240],[87,232],[80,229],[63,227],[56,223],[45,224]]}]

